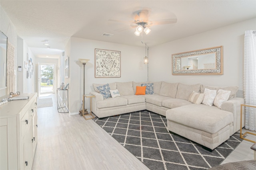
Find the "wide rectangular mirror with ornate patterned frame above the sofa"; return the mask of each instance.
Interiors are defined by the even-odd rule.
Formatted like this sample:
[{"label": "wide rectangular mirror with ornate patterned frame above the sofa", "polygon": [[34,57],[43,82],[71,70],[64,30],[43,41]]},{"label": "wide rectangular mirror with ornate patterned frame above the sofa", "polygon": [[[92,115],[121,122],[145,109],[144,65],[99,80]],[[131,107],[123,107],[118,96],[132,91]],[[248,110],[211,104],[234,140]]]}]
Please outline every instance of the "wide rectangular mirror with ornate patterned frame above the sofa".
[{"label": "wide rectangular mirror with ornate patterned frame above the sofa", "polygon": [[223,74],[223,46],[172,54],[173,75]]}]

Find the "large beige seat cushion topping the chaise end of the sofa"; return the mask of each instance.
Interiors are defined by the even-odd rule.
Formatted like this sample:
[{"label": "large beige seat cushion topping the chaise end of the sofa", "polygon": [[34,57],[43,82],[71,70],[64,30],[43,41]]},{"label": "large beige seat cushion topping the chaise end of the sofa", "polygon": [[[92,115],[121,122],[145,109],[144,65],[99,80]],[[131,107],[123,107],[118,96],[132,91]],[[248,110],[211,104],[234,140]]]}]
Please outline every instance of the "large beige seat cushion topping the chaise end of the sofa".
[{"label": "large beige seat cushion topping the chaise end of the sofa", "polygon": [[166,119],[208,133],[216,133],[233,122],[233,114],[216,106],[190,104],[166,111]]}]

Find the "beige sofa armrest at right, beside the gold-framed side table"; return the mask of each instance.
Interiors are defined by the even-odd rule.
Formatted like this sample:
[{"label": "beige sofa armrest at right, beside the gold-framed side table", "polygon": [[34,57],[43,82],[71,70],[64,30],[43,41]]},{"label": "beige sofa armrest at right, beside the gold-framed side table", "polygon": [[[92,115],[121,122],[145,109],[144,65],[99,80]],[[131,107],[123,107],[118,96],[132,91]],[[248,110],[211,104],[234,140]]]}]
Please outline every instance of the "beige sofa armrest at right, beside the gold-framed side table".
[{"label": "beige sofa armrest at right, beside the gold-framed side table", "polygon": [[[233,113],[234,131],[232,132],[232,135],[240,129],[241,104],[244,104],[244,98],[232,98],[221,105],[221,110]],[[244,109],[242,110],[242,127],[244,127]]]}]

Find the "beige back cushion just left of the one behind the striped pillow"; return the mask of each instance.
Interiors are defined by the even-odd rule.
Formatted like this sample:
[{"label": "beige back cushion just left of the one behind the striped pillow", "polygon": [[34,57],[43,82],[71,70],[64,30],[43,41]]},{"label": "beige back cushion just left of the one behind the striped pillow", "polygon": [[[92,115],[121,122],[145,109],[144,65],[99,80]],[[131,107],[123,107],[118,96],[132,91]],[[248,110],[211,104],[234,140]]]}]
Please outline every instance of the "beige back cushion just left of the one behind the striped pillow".
[{"label": "beige back cushion just left of the one behind the striped pillow", "polygon": [[162,82],[159,95],[176,98],[178,83]]}]

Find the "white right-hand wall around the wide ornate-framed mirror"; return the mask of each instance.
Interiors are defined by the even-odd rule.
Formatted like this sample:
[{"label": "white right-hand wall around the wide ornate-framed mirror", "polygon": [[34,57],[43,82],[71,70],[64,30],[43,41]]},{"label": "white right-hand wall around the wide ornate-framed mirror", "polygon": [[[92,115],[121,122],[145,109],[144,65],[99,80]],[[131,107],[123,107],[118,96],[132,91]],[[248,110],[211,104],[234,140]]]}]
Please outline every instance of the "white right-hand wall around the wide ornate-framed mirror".
[{"label": "white right-hand wall around the wide ornate-framed mirror", "polygon": [[[256,18],[152,47],[149,80],[238,86],[243,90],[244,31],[248,29],[256,30]],[[224,51],[223,75],[172,75],[172,54],[221,45]]]}]

